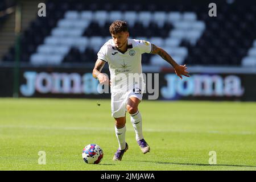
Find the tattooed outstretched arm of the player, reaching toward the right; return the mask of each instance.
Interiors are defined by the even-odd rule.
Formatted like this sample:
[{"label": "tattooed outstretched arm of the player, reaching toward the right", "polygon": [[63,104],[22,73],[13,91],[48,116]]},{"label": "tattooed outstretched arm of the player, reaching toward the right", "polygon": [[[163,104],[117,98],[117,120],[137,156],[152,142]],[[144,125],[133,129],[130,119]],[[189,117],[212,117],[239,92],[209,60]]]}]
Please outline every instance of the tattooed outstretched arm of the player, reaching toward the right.
[{"label": "tattooed outstretched arm of the player, reaching toward the right", "polygon": [[181,79],[182,79],[181,75],[190,77],[188,75],[189,72],[186,71],[186,69],[187,69],[186,65],[185,64],[184,65],[177,64],[175,62],[175,60],[172,59],[172,57],[170,55],[168,55],[168,53],[166,51],[164,51],[164,49],[152,44],[151,53],[161,56],[164,60],[166,60],[168,63],[170,63],[172,65],[172,67],[174,67],[176,75],[179,76]]}]

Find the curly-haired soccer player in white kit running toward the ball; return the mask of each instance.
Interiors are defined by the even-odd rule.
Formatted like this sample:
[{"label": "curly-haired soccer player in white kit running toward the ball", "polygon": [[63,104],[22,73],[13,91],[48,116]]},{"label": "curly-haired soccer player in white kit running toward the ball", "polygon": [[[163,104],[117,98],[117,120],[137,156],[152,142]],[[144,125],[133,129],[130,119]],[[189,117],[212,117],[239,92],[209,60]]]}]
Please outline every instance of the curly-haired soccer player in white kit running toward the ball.
[{"label": "curly-haired soccer player in white kit running toward the ball", "polygon": [[[129,39],[126,22],[116,20],[109,27],[109,31],[112,39],[106,42],[98,52],[98,59],[93,69],[93,77],[97,78],[100,84],[110,84],[112,117],[115,119],[115,135],[119,144],[113,160],[122,160],[123,154],[128,149],[128,144],[125,142],[127,111],[130,114],[131,123],[135,130],[137,143],[143,154],[150,151],[150,146],[144,140],[142,116],[138,110],[143,94],[141,85],[129,85],[131,89],[122,90],[121,87],[118,87],[121,84],[116,79],[118,74],[142,74],[142,53],[158,54],[174,67],[176,75],[181,79],[182,75],[189,77],[189,72],[186,71],[186,65],[177,64],[162,48],[145,40]],[[101,73],[105,63],[109,64],[110,80],[108,76]]]}]

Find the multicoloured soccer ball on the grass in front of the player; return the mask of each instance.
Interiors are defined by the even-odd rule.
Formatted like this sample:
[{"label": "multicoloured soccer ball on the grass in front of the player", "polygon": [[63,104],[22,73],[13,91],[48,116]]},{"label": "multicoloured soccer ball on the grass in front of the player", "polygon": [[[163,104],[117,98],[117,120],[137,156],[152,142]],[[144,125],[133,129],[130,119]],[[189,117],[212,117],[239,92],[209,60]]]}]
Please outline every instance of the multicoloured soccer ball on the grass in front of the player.
[{"label": "multicoloured soccer ball on the grass in front of the player", "polygon": [[82,159],[88,164],[98,164],[103,158],[103,151],[97,144],[88,144],[82,149]]}]

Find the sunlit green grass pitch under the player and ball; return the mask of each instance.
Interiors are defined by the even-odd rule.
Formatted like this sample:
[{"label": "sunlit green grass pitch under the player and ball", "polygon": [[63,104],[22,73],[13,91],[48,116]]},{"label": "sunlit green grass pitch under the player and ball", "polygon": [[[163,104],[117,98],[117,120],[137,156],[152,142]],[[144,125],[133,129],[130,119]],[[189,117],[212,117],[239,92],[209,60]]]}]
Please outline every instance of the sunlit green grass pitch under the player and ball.
[{"label": "sunlit green grass pitch under the player and ball", "polygon": [[[127,118],[129,150],[113,162],[118,143],[110,100],[0,99],[2,170],[256,170],[256,103],[146,101],[139,105],[144,138],[142,154]],[[82,148],[97,143],[100,164],[86,164]],[[39,165],[39,151],[46,164]],[[217,164],[209,164],[209,152]]]}]

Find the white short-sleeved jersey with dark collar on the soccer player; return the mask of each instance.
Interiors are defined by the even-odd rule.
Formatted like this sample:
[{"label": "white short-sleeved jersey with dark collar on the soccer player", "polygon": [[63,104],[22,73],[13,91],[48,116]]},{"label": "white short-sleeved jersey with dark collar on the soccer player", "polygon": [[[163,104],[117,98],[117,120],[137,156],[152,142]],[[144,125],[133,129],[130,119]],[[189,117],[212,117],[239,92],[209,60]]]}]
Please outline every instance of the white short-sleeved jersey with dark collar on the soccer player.
[{"label": "white short-sleeved jersey with dark collar on the soccer player", "polygon": [[[113,39],[110,39],[101,47],[98,52],[98,59],[109,64],[110,81],[112,82],[111,92],[126,92],[124,86],[134,87],[133,79],[127,81],[123,79],[123,76],[125,75],[128,78],[131,75],[130,73],[137,73],[137,75],[142,76],[141,55],[151,51],[152,45],[150,42],[135,39],[127,40],[127,51],[125,53],[117,50]],[[125,84],[126,82],[127,84]],[[139,87],[141,88],[141,86]]]}]

